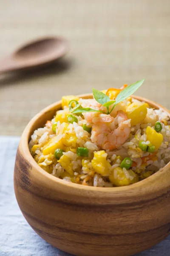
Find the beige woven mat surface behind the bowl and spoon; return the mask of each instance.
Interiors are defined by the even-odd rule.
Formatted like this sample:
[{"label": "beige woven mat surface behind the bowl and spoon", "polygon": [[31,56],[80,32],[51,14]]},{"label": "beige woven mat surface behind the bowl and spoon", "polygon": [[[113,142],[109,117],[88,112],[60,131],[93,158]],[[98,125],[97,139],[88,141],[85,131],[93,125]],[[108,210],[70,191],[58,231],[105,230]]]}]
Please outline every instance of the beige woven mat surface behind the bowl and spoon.
[{"label": "beige woven mat surface behind the bowl and spoon", "polygon": [[170,108],[169,0],[0,1],[0,56],[24,41],[63,35],[71,50],[57,65],[0,76],[0,135],[64,94],[145,78],[138,95]]}]

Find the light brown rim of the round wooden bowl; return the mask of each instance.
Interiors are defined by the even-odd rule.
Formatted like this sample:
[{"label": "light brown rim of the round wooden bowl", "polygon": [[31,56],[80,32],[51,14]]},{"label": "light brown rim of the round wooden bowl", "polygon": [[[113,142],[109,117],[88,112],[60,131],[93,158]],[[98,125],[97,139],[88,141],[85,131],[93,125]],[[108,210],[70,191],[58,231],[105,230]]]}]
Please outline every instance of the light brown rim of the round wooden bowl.
[{"label": "light brown rim of the round wooden bowl", "polygon": [[[92,98],[91,93],[80,94],[80,95],[77,95],[77,96],[79,98],[85,98],[85,99]],[[170,116],[170,111],[167,110],[167,108],[165,108],[164,106],[162,106],[162,105],[160,105],[160,104],[158,104],[158,103],[156,103],[152,100],[146,99],[146,98],[141,97],[141,96],[131,96],[131,97],[133,99],[137,99],[139,101],[147,102],[147,103],[149,103],[150,106],[153,106],[154,108],[157,108],[157,109],[161,109],[161,110],[167,112],[168,116]],[[141,189],[143,187],[146,187],[148,185],[150,186],[151,183],[154,183],[154,181],[157,180],[160,177],[160,175],[162,175],[162,172],[163,172],[164,168],[159,169],[158,172],[154,173],[150,177],[147,177],[144,180],[140,180],[137,183],[131,184],[130,186],[128,185],[128,186],[119,186],[119,187],[94,187],[94,186],[82,186],[82,184],[68,182],[68,181],[62,180],[58,177],[55,177],[55,176],[49,174],[48,172],[45,172],[45,170],[43,170],[37,164],[37,162],[32,157],[31,152],[29,151],[28,141],[29,141],[29,137],[31,136],[30,131],[31,131],[31,127],[34,125],[34,123],[38,119],[40,119],[41,116],[43,116],[44,113],[48,113],[52,109],[54,110],[55,108],[56,108],[56,111],[57,111],[57,109],[59,109],[59,107],[61,108],[61,100],[57,101],[57,102],[54,102],[51,105],[48,105],[46,108],[42,109],[39,113],[37,113],[28,122],[28,125],[26,125],[26,128],[24,129],[23,134],[22,134],[21,139],[20,139],[20,143],[22,145],[23,153],[24,153],[24,156],[26,157],[26,160],[28,160],[28,162],[31,164],[31,166],[33,166],[34,169],[36,169],[36,171],[39,172],[41,175],[43,175],[46,179],[51,180],[55,183],[58,183],[59,185],[69,187],[69,188],[72,188],[72,189],[76,189],[76,190],[78,189],[78,190],[82,190],[82,191],[99,192],[100,195],[101,195],[101,192],[104,192],[104,194],[105,194],[105,192],[106,193],[109,192],[111,194],[113,194],[115,192],[122,192],[122,193],[129,192],[131,194],[132,191],[134,192],[134,189],[139,189],[139,191],[142,191]],[[166,166],[168,166],[168,168],[170,168],[170,162],[168,162]],[[151,187],[152,186],[150,186],[150,188],[149,188],[150,192],[151,192]],[[152,187],[152,189],[153,189],[153,187]],[[154,192],[159,192],[159,190],[160,190],[160,188],[154,187]],[[148,189],[147,189],[147,193],[148,193]]]}]

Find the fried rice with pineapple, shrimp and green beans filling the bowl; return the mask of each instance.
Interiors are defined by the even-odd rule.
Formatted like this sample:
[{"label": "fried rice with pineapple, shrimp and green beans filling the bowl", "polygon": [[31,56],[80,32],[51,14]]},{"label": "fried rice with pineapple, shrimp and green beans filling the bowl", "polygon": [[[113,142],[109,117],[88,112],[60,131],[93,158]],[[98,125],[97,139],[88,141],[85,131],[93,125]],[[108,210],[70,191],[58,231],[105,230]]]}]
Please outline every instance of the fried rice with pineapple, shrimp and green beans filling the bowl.
[{"label": "fried rice with pineapple, shrimp and green beans filling the bowl", "polygon": [[[62,110],[35,130],[29,142],[34,160],[44,171],[68,182],[114,187],[143,180],[170,161],[170,119],[162,109],[129,97],[107,116],[98,112],[76,115],[68,106],[71,100],[83,108],[105,110],[95,99],[63,96]],[[76,122],[68,122],[69,115]],[[161,124],[159,132],[156,122]],[[85,148],[85,156],[77,148]],[[60,156],[57,149],[62,150]],[[125,158],[132,161],[130,166]]]}]

